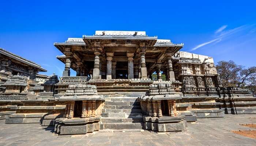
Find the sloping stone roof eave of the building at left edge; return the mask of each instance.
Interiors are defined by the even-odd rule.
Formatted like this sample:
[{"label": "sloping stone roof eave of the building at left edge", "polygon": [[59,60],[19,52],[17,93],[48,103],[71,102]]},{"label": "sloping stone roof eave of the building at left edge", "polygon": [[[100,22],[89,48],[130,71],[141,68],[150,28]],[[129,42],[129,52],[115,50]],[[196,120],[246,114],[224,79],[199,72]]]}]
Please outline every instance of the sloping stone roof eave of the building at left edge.
[{"label": "sloping stone roof eave of the building at left edge", "polygon": [[34,68],[39,69],[40,72],[47,72],[47,70],[45,70],[44,68],[42,68],[39,64],[36,64],[35,62],[32,62],[32,61],[27,60],[27,59],[25,59],[25,58],[22,58],[22,57],[20,57],[19,55],[16,55],[16,54],[11,53],[11,52],[9,52],[9,51],[7,51],[7,50],[4,50],[3,48],[0,48],[0,54],[5,55],[5,56],[7,56],[7,57],[10,57],[10,58],[12,58],[12,59],[15,59],[15,60],[17,60],[17,61],[19,61],[19,62],[22,62],[22,63],[24,63],[24,64],[33,66]]}]

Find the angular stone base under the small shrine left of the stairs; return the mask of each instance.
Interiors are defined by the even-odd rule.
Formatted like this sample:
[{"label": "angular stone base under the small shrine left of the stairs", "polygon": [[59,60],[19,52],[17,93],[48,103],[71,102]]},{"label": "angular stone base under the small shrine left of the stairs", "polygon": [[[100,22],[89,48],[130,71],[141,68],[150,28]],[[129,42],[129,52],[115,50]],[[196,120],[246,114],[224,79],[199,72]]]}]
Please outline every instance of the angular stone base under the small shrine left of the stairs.
[{"label": "angular stone base under the small shrine left of the stairs", "polygon": [[60,135],[86,134],[99,130],[100,116],[90,118],[56,119],[54,131]]}]

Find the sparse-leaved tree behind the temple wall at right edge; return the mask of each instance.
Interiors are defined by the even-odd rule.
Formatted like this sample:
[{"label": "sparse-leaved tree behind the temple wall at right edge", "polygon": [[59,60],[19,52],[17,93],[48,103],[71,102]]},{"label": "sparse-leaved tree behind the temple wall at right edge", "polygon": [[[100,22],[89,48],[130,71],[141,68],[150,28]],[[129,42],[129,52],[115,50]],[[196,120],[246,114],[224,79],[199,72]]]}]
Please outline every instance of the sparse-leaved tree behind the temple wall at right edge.
[{"label": "sparse-leaved tree behind the temple wall at right edge", "polygon": [[222,85],[240,88],[253,87],[256,85],[256,66],[245,68],[235,64],[234,61],[219,61],[216,66],[217,72],[222,79]]}]

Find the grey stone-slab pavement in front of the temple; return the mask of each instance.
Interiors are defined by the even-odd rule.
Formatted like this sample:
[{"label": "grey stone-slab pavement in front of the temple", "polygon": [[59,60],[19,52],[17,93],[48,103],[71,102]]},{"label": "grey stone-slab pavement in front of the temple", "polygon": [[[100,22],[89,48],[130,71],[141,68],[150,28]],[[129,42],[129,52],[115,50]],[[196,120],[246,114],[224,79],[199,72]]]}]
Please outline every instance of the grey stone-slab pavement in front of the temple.
[{"label": "grey stone-slab pavement in front of the temple", "polygon": [[40,124],[4,124],[0,120],[0,146],[255,146],[256,139],[231,130],[256,130],[239,123],[256,123],[256,115],[225,115],[198,119],[187,131],[176,133],[94,132],[86,135],[56,136],[53,128]]}]

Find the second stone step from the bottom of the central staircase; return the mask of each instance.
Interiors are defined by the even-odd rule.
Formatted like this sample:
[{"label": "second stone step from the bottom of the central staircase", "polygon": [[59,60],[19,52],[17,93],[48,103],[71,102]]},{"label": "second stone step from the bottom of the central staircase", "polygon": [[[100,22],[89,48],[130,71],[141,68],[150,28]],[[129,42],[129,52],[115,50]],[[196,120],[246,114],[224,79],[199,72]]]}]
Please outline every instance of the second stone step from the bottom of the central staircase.
[{"label": "second stone step from the bottom of the central staircase", "polygon": [[101,118],[102,123],[140,123],[143,122],[143,117],[134,118]]}]

